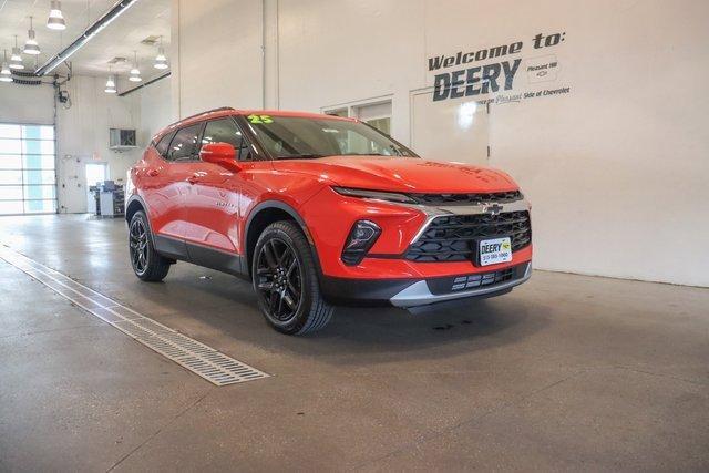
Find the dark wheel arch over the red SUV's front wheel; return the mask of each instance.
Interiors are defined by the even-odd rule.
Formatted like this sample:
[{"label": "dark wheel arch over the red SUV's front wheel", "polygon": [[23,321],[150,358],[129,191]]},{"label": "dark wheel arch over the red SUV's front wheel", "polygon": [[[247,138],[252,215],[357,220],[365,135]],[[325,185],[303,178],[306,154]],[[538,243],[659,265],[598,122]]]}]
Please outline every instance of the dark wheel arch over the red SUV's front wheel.
[{"label": "dark wheel arch over the red SUV's front wheel", "polygon": [[244,226],[244,235],[246,235],[244,241],[246,271],[244,273],[249,276],[251,274],[251,260],[254,257],[254,249],[256,248],[256,241],[258,240],[259,235],[267,226],[279,220],[292,220],[298,224],[304,235],[306,236],[308,244],[310,245],[310,249],[312,250],[312,257],[317,265],[316,269],[318,274],[321,274],[318,251],[315,247],[315,241],[312,240],[305,219],[300,216],[298,210],[282,200],[261,202],[251,209],[248,218],[246,219],[246,225]]}]

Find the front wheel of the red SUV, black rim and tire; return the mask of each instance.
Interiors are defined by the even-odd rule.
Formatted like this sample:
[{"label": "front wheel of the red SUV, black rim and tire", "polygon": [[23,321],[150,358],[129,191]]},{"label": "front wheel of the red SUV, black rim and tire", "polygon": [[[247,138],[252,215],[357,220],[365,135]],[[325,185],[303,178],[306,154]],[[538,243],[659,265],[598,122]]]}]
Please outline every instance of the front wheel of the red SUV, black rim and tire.
[{"label": "front wheel of the red SUV, black rim and tire", "polygon": [[333,308],[320,295],[310,245],[295,223],[266,227],[256,243],[251,275],[258,306],[276,330],[305,335],[330,321]]}]

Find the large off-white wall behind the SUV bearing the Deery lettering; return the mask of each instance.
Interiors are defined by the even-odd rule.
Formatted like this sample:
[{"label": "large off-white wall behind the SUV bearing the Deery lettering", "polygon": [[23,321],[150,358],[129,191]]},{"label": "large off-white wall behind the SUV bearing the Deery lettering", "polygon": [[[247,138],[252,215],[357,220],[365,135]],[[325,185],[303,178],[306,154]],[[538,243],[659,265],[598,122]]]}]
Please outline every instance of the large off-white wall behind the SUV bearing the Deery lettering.
[{"label": "large off-white wall behind the SUV bearing the Deery lettering", "polygon": [[[536,267],[709,286],[709,2],[265,0],[260,17],[250,0],[174,4],[182,116],[264,97],[319,111],[390,95],[392,134],[409,143],[411,92],[433,83],[427,58],[518,40],[524,61],[555,54],[553,85],[568,94],[490,116],[490,164],[534,205]],[[532,49],[554,32],[564,42]],[[513,92],[546,88],[518,74]]]}]

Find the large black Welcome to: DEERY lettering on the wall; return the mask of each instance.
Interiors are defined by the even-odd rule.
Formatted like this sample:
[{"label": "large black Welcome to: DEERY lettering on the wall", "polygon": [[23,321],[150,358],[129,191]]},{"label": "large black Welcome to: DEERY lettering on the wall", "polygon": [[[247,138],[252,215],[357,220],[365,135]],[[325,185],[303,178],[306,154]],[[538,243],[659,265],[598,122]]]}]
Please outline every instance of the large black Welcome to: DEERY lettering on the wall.
[{"label": "large black Welcome to: DEERY lettering on the wall", "polygon": [[[555,47],[564,41],[565,32],[537,34],[532,39],[534,50]],[[436,55],[428,59],[429,71],[458,66],[451,72],[442,72],[433,79],[433,101],[460,99],[463,96],[485,95],[500,90],[508,91],[520,71],[522,59],[507,58],[524,49],[523,41],[496,45],[477,51],[459,51],[453,55]],[[490,60],[497,60],[487,62]],[[467,64],[475,64],[466,66]]]}]

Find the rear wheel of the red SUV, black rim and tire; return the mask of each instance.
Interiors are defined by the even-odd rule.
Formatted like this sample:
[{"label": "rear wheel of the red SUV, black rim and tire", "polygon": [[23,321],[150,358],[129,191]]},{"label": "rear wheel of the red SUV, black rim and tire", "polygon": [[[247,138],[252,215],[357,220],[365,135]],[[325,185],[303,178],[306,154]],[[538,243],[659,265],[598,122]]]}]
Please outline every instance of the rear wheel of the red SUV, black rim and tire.
[{"label": "rear wheel of the red SUV, black rim and tire", "polygon": [[153,234],[142,210],[133,215],[129,225],[129,254],[133,273],[140,279],[155,282],[167,276],[172,260],[155,251]]}]

